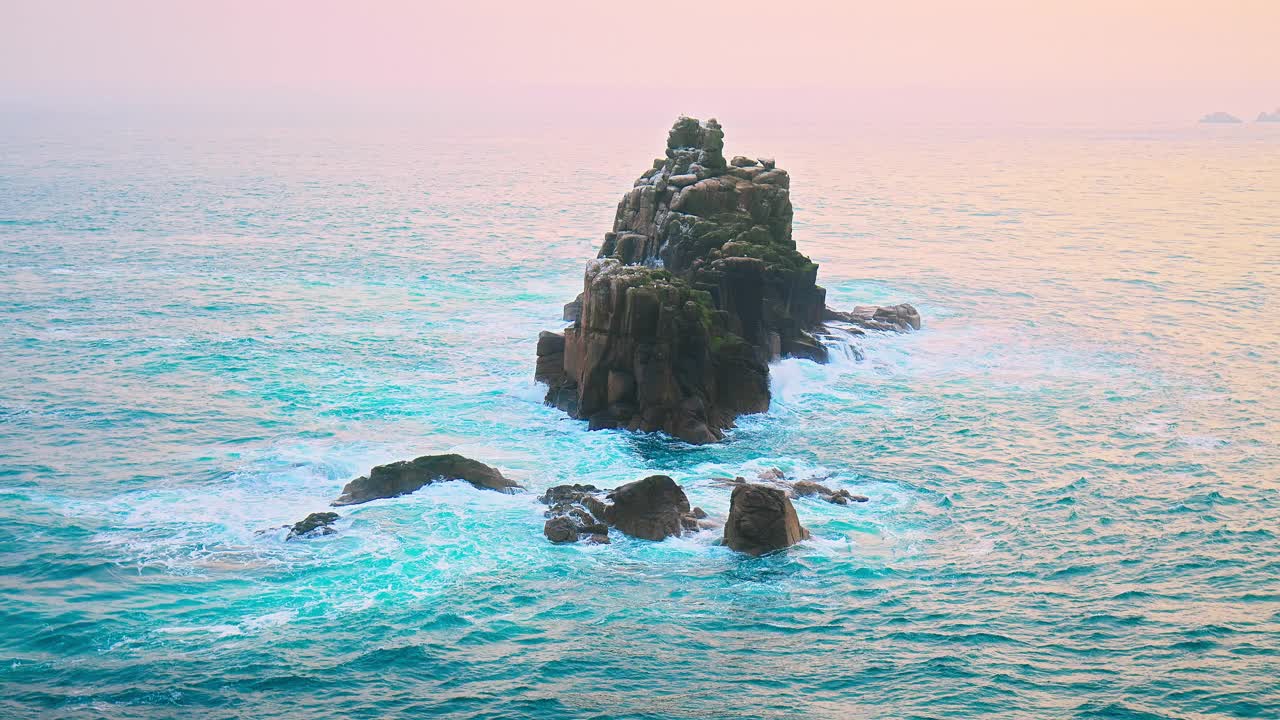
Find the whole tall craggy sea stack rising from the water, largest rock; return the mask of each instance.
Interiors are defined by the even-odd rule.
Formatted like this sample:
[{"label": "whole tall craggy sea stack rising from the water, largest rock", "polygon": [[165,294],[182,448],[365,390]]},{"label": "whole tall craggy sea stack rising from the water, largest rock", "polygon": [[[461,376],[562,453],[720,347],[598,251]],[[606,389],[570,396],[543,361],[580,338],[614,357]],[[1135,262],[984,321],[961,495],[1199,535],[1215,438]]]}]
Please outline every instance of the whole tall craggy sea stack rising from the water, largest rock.
[{"label": "whole tall craggy sea stack rising from the water, largest rock", "polygon": [[791,238],[791,178],[772,159],[726,163],[723,149],[714,119],[680,118],[622,197],[564,306],[573,324],[538,338],[548,405],[591,429],[707,443],[768,410],[769,361],[827,359],[814,337],[827,293]]}]

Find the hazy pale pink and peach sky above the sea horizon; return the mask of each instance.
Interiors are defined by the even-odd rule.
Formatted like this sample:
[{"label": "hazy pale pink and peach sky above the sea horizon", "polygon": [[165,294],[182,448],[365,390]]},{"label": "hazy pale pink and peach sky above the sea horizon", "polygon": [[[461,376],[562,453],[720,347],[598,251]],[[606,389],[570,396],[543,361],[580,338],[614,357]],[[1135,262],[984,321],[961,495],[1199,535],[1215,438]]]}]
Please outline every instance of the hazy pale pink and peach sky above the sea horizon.
[{"label": "hazy pale pink and peach sky above the sea horizon", "polygon": [[0,102],[1252,119],[1280,0],[0,0]]}]

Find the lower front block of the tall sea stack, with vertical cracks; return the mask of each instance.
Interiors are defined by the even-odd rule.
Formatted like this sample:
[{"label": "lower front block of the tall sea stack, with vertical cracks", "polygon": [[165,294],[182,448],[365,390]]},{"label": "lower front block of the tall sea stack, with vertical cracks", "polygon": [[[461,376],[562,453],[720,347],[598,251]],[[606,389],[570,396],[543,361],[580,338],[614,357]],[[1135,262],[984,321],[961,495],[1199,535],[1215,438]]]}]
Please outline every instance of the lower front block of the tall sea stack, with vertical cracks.
[{"label": "lower front block of the tall sea stack, with vertical cracks", "polygon": [[543,333],[547,402],[591,429],[663,430],[714,442],[737,415],[769,407],[768,366],[710,296],[666,270],[593,261],[581,315]]}]

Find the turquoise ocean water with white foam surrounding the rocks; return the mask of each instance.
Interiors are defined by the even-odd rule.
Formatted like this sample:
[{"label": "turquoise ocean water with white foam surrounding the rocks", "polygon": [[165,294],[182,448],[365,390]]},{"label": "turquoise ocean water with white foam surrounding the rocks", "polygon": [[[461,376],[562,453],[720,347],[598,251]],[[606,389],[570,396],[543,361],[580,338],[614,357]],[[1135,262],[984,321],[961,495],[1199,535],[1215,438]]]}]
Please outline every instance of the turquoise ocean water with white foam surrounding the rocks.
[{"label": "turquoise ocean water with white foam surrounding the rocks", "polygon": [[[0,716],[1280,717],[1280,128],[721,119],[831,304],[924,328],[777,364],[708,447],[532,382],[662,127],[8,127]],[[462,483],[284,542],[434,452],[870,501],[762,559]]]}]

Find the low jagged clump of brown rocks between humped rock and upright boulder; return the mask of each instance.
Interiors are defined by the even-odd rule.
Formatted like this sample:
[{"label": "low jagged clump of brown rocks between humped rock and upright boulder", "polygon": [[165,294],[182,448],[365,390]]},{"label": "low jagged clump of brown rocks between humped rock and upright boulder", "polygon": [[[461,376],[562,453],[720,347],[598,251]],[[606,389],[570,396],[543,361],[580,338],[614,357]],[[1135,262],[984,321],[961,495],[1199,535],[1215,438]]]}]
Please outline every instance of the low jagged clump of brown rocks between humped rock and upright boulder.
[{"label": "low jagged clump of brown rocks between humped rock and upright boulder", "polygon": [[707,514],[690,507],[685,491],[667,475],[650,475],[613,491],[557,486],[539,500],[549,505],[543,533],[554,543],[609,542],[609,525],[640,539],[660,541],[696,530]]}]

